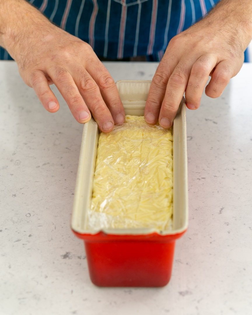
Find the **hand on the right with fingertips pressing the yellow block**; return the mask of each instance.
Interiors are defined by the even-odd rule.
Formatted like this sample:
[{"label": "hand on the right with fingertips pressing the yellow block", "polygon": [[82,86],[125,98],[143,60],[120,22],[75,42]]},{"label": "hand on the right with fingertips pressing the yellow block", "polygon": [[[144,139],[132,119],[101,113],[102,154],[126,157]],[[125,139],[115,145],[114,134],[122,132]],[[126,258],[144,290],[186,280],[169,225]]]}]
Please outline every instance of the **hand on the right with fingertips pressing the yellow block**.
[{"label": "hand on the right with fingertips pressing the yellow block", "polygon": [[[251,12],[249,1],[245,10],[250,8]],[[242,27],[234,17],[239,13],[238,9],[228,13],[226,5],[232,10],[231,2],[238,5],[237,1],[221,1],[222,7],[220,3],[220,8],[216,7],[212,14],[169,42],[146,100],[147,123],[159,120],[164,128],[171,127],[184,92],[186,106],[197,109],[209,75],[211,80],[205,93],[215,98],[239,72],[243,52],[251,39],[251,29]],[[240,11],[244,11],[244,3],[241,5]]]}]

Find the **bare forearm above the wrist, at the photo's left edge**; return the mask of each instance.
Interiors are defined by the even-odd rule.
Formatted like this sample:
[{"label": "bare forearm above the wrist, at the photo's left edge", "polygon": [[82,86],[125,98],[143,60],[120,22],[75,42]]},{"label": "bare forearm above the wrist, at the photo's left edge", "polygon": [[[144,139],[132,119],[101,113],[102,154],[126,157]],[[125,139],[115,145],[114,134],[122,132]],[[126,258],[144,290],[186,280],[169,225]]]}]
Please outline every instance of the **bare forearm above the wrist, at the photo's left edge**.
[{"label": "bare forearm above the wrist, at the photo's left edge", "polygon": [[20,51],[20,44],[33,36],[34,28],[49,24],[49,20],[25,0],[0,0],[0,46],[14,59],[15,51]]}]

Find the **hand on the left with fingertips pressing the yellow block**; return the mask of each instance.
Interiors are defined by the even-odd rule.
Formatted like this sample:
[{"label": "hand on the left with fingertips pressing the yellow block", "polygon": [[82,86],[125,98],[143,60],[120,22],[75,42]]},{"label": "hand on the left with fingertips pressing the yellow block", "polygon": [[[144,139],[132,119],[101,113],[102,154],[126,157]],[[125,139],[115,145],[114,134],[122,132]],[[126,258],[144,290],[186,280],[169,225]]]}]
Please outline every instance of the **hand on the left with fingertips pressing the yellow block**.
[{"label": "hand on the left with fingertips pressing the yellow block", "polygon": [[103,132],[123,123],[125,113],[115,82],[91,46],[31,10],[37,14],[36,23],[24,21],[20,35],[9,39],[9,47],[7,40],[6,46],[44,108],[57,112],[60,107],[49,87],[54,83],[79,123],[89,121],[90,112]]}]

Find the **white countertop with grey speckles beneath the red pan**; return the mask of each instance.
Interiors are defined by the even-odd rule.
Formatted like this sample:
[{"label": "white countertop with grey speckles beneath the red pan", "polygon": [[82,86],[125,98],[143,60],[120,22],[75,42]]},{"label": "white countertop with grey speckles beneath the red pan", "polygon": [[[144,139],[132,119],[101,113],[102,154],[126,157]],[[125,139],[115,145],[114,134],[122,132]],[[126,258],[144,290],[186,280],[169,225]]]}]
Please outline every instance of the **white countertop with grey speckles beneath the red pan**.
[{"label": "white countertop with grey speckles beneath the red pan", "polygon": [[[156,63],[106,63],[115,80]],[[164,288],[99,288],[70,229],[82,125],[0,62],[0,315],[228,315],[252,309],[252,64],[187,111],[189,229]]]}]

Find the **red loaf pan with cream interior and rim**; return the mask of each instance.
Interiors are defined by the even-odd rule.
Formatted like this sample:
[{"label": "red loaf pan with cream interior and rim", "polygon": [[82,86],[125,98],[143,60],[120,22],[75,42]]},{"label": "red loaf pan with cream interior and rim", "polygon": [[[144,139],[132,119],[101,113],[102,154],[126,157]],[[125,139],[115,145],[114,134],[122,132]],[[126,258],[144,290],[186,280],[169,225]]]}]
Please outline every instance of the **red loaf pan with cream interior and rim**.
[{"label": "red loaf pan with cream interior and rim", "polygon": [[[150,83],[117,82],[126,114],[144,114]],[[72,212],[72,230],[84,240],[91,281],[106,287],[162,287],[171,277],[175,240],[188,226],[185,101],[181,101],[173,124],[173,219],[167,231],[90,229],[87,209],[92,197],[98,135],[93,119],[84,124]]]}]

